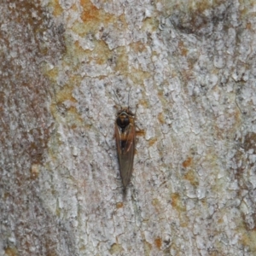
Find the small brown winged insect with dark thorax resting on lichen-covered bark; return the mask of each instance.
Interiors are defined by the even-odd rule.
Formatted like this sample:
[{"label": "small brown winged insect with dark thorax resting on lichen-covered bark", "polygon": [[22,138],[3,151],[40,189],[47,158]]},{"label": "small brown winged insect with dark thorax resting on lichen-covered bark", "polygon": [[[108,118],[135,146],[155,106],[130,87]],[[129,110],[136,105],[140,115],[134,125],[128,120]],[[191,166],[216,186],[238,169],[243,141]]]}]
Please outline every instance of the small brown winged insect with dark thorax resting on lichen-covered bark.
[{"label": "small brown winged insect with dark thorax resting on lichen-covered bark", "polygon": [[131,180],[135,153],[135,114],[129,107],[120,108],[115,120],[115,139],[119,159],[119,171],[124,188]]}]

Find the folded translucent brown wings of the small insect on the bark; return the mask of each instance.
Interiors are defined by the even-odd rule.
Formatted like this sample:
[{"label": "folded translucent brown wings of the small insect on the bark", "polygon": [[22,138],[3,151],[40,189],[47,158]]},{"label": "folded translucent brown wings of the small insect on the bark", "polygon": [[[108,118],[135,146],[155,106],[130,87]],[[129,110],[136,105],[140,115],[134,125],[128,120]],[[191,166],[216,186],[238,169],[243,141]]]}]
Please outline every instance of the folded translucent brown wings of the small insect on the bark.
[{"label": "folded translucent brown wings of the small insect on the bark", "polygon": [[119,169],[124,187],[130,183],[133,168],[135,150],[135,126],[130,123],[125,127],[125,131],[115,125],[116,144],[119,158]]}]

